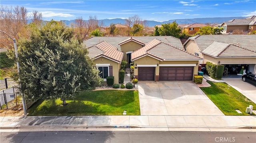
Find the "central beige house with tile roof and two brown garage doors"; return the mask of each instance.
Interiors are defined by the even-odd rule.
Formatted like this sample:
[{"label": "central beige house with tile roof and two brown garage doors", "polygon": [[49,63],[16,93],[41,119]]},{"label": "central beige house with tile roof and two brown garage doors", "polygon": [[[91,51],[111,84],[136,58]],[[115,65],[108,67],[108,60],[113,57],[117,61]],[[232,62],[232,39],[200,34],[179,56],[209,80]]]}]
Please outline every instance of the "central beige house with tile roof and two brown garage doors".
[{"label": "central beige house with tile roof and two brown garage doors", "polygon": [[172,36],[90,37],[83,46],[101,77],[114,76],[118,83],[122,60],[134,62],[138,80],[192,80],[198,74],[199,57],[183,50],[180,39]]}]

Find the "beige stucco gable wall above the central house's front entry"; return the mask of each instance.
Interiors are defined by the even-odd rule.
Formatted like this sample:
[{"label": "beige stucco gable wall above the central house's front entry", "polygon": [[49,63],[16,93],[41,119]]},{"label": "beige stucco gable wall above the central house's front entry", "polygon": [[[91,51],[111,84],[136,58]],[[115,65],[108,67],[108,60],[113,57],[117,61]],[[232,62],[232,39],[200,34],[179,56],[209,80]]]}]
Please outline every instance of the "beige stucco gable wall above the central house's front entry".
[{"label": "beige stucco gable wall above the central house's front entry", "polygon": [[129,41],[127,43],[124,43],[124,44],[120,45],[120,47],[121,47],[121,51],[123,51],[123,53],[124,53],[123,60],[127,61],[126,52],[134,51],[135,49],[138,49],[138,48],[142,47],[142,45],[140,45],[140,44],[138,44],[134,41]]}]

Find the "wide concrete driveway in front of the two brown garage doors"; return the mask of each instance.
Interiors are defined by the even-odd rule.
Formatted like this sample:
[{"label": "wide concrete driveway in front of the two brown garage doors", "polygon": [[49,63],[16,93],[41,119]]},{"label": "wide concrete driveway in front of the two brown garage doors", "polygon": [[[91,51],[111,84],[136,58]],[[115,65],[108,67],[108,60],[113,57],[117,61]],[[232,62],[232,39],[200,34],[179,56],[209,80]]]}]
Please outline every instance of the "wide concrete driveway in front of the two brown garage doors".
[{"label": "wide concrete driveway in front of the two brown garage doors", "polygon": [[139,81],[141,115],[224,115],[193,81]]}]

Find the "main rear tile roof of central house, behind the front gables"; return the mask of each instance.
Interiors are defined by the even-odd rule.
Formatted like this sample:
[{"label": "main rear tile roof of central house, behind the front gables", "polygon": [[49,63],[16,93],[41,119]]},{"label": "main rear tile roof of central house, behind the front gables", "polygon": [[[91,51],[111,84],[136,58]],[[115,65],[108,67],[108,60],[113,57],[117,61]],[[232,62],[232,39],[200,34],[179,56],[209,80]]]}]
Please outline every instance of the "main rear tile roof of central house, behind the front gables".
[{"label": "main rear tile roof of central house, behind the front gables", "polygon": [[[121,50],[120,45],[118,45],[121,41],[124,41],[130,37],[90,37],[86,39],[83,43],[83,47],[91,47],[92,45],[96,45],[100,43],[101,41],[107,41],[111,45],[114,45],[119,50]],[[183,45],[180,41],[180,39],[172,37],[172,36],[133,36],[134,39],[142,42],[142,43],[148,43],[152,41],[153,39],[158,39],[159,41],[163,41],[165,43],[168,43],[169,45],[172,45],[174,47],[183,49]]]}]

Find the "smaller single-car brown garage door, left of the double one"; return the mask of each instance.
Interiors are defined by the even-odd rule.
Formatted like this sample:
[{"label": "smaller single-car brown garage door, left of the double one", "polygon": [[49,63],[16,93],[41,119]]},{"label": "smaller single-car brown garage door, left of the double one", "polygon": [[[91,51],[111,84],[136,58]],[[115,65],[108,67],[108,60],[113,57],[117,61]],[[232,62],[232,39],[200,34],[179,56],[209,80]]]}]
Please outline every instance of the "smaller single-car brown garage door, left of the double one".
[{"label": "smaller single-car brown garage door, left of the double one", "polygon": [[138,80],[155,80],[155,67],[138,67]]}]

